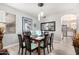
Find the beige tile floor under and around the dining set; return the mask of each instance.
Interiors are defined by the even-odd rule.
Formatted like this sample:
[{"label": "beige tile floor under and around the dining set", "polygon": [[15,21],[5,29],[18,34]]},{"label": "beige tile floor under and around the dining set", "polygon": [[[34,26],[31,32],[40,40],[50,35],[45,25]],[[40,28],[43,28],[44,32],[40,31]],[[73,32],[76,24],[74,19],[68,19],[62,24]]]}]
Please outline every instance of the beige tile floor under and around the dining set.
[{"label": "beige tile floor under and around the dining set", "polygon": [[[18,45],[7,49],[10,55],[18,55]],[[36,51],[33,52],[32,54],[37,55]],[[42,50],[41,50],[41,55],[43,55]],[[54,42],[54,49],[49,54],[46,52],[46,55],[76,55],[74,47],[72,45],[71,37],[64,38],[59,42]]]}]

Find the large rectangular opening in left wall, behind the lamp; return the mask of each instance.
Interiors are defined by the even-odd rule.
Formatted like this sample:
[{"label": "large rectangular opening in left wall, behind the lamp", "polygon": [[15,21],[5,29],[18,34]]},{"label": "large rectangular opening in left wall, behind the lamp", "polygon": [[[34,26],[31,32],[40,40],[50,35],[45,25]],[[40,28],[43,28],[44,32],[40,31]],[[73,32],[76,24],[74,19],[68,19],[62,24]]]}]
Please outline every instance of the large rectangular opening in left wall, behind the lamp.
[{"label": "large rectangular opening in left wall, behind the lamp", "polygon": [[4,33],[16,33],[16,15],[0,10],[0,28]]}]

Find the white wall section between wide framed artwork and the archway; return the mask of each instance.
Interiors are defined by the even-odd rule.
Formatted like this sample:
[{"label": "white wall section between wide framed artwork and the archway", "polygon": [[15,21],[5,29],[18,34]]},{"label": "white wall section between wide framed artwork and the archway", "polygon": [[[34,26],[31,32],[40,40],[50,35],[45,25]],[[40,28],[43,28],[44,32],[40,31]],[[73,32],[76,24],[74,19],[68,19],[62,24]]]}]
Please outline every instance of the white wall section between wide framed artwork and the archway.
[{"label": "white wall section between wide framed artwork and the archway", "polygon": [[48,16],[42,19],[41,22],[56,22],[56,31],[54,32],[54,40],[61,40],[61,17],[59,15]]}]

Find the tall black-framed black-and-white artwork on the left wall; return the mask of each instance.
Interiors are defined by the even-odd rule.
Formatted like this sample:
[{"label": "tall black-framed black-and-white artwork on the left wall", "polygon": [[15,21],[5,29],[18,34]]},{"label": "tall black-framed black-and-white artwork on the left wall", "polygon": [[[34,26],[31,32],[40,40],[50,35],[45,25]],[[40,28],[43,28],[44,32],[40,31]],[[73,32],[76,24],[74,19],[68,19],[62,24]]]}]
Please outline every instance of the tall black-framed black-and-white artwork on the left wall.
[{"label": "tall black-framed black-and-white artwork on the left wall", "polygon": [[32,30],[32,19],[27,17],[22,17],[22,32]]}]

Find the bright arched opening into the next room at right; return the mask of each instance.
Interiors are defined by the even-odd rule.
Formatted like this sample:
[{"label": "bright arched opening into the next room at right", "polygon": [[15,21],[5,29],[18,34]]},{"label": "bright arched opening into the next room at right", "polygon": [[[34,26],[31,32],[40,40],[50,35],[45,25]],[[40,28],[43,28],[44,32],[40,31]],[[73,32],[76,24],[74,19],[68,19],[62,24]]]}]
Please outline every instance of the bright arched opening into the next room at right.
[{"label": "bright arched opening into the next room at right", "polygon": [[64,37],[72,37],[77,28],[77,17],[74,14],[66,14],[61,17],[62,39]]}]

